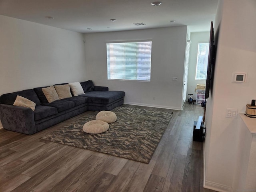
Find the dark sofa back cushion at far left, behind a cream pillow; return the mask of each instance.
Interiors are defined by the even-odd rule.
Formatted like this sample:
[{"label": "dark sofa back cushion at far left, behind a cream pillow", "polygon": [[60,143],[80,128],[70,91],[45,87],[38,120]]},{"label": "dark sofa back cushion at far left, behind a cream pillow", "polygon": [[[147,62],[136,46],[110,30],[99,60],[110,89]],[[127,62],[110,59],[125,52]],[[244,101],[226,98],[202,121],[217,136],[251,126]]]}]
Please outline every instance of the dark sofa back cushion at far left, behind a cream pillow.
[{"label": "dark sofa back cushion at far left, behind a cream pillow", "polygon": [[36,92],[34,92],[33,89],[3,94],[0,97],[0,102],[2,104],[6,104],[6,105],[13,105],[14,101],[17,98],[17,95],[27,98],[27,99],[33,101],[34,103],[36,103],[37,105],[41,104]]}]

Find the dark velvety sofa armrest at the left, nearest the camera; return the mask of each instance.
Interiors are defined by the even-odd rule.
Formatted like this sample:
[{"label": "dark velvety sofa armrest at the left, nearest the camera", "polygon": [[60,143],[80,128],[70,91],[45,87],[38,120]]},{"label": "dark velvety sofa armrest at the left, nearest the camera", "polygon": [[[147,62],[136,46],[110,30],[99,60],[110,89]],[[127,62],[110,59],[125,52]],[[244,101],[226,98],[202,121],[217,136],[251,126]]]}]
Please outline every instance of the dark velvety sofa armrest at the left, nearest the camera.
[{"label": "dark velvety sofa armrest at the left, nearest the camera", "polygon": [[34,112],[30,108],[0,104],[0,119],[5,129],[24,134],[34,134]]}]

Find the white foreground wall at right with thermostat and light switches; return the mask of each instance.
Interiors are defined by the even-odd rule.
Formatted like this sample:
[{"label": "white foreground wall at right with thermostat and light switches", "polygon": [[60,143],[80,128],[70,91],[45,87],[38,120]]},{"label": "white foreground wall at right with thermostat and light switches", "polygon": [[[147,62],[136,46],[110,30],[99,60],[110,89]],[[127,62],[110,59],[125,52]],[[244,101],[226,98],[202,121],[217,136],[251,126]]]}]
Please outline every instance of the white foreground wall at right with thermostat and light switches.
[{"label": "white foreground wall at right with thermostat and light switches", "polygon": [[[246,2],[246,3],[245,3]],[[206,106],[206,186],[236,191],[237,157],[241,127],[226,118],[226,108],[245,112],[256,98],[256,1],[220,0],[215,19],[219,40],[214,88]],[[232,72],[246,72],[246,83],[231,82]]]}]

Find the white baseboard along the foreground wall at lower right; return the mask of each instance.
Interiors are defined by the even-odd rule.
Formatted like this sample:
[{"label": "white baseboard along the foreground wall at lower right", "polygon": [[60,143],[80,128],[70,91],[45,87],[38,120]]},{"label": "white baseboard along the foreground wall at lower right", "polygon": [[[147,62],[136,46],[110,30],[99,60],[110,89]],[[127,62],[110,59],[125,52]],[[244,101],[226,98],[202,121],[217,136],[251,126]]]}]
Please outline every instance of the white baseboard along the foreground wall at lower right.
[{"label": "white baseboard along the foreground wall at lower right", "polygon": [[233,192],[232,188],[229,186],[225,186],[222,184],[218,184],[218,183],[206,180],[205,146],[204,146],[204,155],[203,156],[204,156],[204,188],[218,191],[218,192]]}]

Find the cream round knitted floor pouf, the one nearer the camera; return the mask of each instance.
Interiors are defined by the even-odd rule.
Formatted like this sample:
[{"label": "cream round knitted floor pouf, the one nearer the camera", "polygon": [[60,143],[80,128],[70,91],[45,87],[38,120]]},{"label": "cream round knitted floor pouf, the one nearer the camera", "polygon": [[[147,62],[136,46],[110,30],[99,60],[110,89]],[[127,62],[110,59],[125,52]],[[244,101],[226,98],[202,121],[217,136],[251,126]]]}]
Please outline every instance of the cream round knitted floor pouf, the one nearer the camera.
[{"label": "cream round knitted floor pouf, the one nearer the camera", "polygon": [[108,128],[108,123],[101,120],[92,120],[84,124],[83,131],[90,134],[98,134],[105,132]]}]

